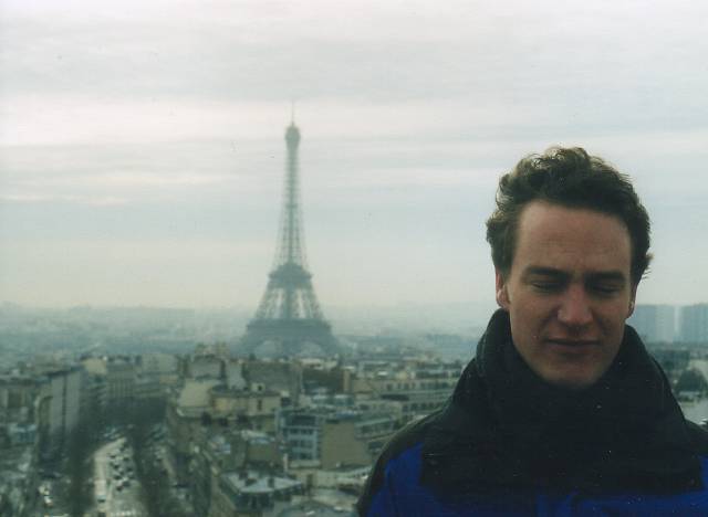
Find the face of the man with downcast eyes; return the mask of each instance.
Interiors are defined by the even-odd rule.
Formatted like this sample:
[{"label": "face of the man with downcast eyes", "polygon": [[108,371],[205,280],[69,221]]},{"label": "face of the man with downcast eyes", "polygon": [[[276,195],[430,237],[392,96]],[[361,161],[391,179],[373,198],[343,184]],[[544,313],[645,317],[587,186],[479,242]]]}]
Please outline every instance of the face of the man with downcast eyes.
[{"label": "face of the man with downcast eyes", "polygon": [[634,310],[631,265],[620,219],[541,201],[523,209],[511,270],[497,271],[497,303],[539,377],[579,389],[610,368]]}]

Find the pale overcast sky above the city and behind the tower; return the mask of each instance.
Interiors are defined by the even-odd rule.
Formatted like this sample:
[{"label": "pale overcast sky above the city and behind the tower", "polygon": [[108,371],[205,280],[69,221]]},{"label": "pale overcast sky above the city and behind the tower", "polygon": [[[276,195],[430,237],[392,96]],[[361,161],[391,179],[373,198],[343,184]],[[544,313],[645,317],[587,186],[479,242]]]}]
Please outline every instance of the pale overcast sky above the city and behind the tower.
[{"label": "pale overcast sky above the city and behind the tower", "polygon": [[639,303],[708,302],[708,3],[0,0],[0,300],[254,308],[291,99],[327,306],[493,304],[523,155],[579,145],[654,223]]}]

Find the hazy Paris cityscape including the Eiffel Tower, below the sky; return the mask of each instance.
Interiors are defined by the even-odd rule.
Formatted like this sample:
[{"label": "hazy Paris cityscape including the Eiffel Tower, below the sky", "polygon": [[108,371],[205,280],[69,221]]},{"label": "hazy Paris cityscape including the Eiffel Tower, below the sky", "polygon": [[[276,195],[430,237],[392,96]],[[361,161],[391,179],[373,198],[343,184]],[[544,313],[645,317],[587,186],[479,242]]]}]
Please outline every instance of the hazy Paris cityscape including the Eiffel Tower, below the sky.
[{"label": "hazy Paris cityscape including the Eiffel Tower, below the sky", "polygon": [[[242,336],[232,312],[0,308],[3,515],[355,515],[386,441],[448,400],[480,328],[335,337],[306,268],[300,139],[291,122],[274,267]],[[629,321],[708,423],[708,304]]]}]

